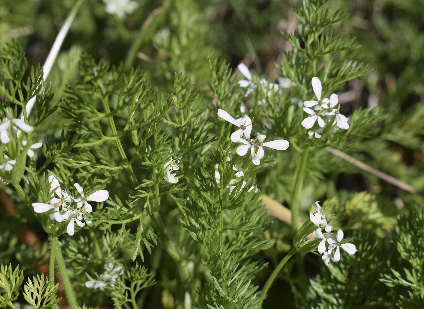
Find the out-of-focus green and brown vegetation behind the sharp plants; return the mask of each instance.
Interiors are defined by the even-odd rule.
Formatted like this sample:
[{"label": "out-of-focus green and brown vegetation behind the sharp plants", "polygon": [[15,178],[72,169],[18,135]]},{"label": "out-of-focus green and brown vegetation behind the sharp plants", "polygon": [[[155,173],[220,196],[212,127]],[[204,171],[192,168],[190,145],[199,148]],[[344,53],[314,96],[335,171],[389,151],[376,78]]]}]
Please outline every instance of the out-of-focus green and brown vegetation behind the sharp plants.
[{"label": "out-of-focus green and brown vegetation behind the sharp plants", "polygon": [[[275,82],[279,77],[275,63],[282,60],[282,52],[290,49],[290,44],[280,32],[293,32],[299,25],[293,12],[293,6],[299,5],[297,0],[137,2],[139,6],[134,13],[122,19],[108,14],[102,0],[85,0],[82,3],[48,77],[55,90],[54,102],[61,99],[66,85],[72,84],[81,53],[86,52],[97,62],[117,66],[123,61],[127,69],[140,66],[153,88],[159,92],[170,93],[174,72],[182,72],[190,83],[196,84],[205,102],[210,103],[213,98],[208,93],[208,54],[217,54],[233,69],[243,62],[251,71]],[[74,4],[74,0],[1,0],[0,46],[15,37],[30,65],[44,63]],[[328,5],[332,10],[340,8],[350,13],[347,22],[345,20],[332,29],[335,36],[356,36],[356,42],[362,47],[354,50],[350,58],[370,63],[373,67],[373,72],[368,76],[349,81],[344,91],[339,93],[343,114],[351,117],[354,110],[368,107],[384,111],[385,114],[384,120],[372,126],[367,135],[355,139],[353,145],[343,151],[423,192],[424,1],[331,0]],[[63,119],[53,119],[50,127],[40,128],[37,133],[40,136],[51,133],[53,126],[53,131],[59,136],[63,123]],[[335,199],[336,209],[346,212],[350,218],[372,217],[369,222],[365,219],[358,222],[374,225],[377,235],[374,237],[382,237],[385,231],[393,229],[393,218],[400,210],[413,212],[417,204],[422,204],[421,196],[404,192],[324,149],[314,154],[314,159],[314,162],[327,160],[334,164],[328,164],[321,171],[325,182],[305,182],[304,190],[309,193],[305,194],[308,198],[302,201],[304,210],[313,201],[332,199],[330,193],[336,196],[336,192],[342,190]],[[318,165],[317,168],[321,169]],[[264,187],[269,185],[269,192],[265,193],[279,201],[284,199],[284,193],[272,194],[271,178],[268,182],[265,177],[262,180]],[[261,183],[259,181],[259,188]],[[13,202],[4,190],[1,190],[1,194],[7,215],[13,217]],[[352,207],[352,203],[361,206]],[[379,218],[373,217],[373,213],[379,213]],[[346,220],[340,217],[336,219],[340,222]],[[349,221],[353,228],[360,228],[355,227],[355,223]],[[274,220],[271,234],[265,235],[276,243],[263,254],[271,265],[290,249],[290,240],[282,237],[287,229],[287,225]],[[0,241],[2,248],[6,248],[3,257],[13,254],[14,244],[45,243],[45,239],[39,240],[39,237],[44,237],[40,235],[39,227],[28,225],[24,230],[16,231],[16,236],[11,238],[5,238],[6,234],[3,233]],[[33,238],[28,235],[33,235]],[[28,248],[29,251],[33,250]],[[31,252],[28,252],[28,256],[32,254],[35,261],[44,256],[46,250],[44,245],[36,256]],[[382,256],[385,250],[390,251],[389,248],[382,249]],[[14,259],[22,264],[24,258],[16,256]],[[290,273],[282,273],[284,280],[277,281],[270,290],[265,308],[280,308],[281,299],[287,302],[285,307],[290,308],[294,306],[295,299],[301,299],[305,291],[301,290],[300,283],[303,280],[308,286],[307,278],[316,272],[318,261],[306,260],[314,265],[310,270],[307,268],[312,273],[297,277],[300,278],[298,282],[290,281]],[[31,265],[31,261],[25,263]],[[32,264],[28,269],[37,266]],[[263,272],[264,282],[270,272],[270,269]],[[363,280],[378,278],[375,273],[369,276]],[[314,280],[316,283],[321,279]],[[165,281],[162,282],[164,290],[171,289],[175,283]],[[307,297],[313,298],[312,294],[307,294]],[[168,298],[166,293],[162,295],[161,306],[164,308],[172,308]]]}]

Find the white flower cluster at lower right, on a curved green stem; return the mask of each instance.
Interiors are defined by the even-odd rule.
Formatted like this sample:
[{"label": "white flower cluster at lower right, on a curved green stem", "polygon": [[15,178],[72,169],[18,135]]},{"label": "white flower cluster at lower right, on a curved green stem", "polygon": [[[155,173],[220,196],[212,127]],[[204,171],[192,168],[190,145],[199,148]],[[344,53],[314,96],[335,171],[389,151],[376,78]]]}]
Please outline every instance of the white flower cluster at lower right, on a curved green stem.
[{"label": "white flower cluster at lower right, on a curved green stem", "polygon": [[[341,243],[343,240],[343,231],[338,230],[337,235],[333,236],[333,227],[328,225],[328,218],[321,212],[321,206],[319,201],[315,202],[316,212],[315,215],[310,213],[310,220],[314,223],[318,229],[313,232],[313,235],[317,238],[321,238],[321,242],[318,245],[318,252],[323,254],[322,259],[325,260],[325,264],[328,265],[330,259],[333,262],[340,261],[340,248],[349,254],[355,254],[357,251],[356,246],[351,243]],[[326,249],[326,243],[329,244]],[[333,254],[333,250],[335,252]]]}]

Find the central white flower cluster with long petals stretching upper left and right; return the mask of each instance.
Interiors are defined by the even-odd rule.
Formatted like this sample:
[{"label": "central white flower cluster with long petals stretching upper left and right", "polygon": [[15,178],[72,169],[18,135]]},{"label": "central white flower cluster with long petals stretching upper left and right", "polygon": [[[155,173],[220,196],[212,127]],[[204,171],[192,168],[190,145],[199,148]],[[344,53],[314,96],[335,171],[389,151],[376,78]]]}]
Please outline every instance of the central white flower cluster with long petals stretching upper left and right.
[{"label": "central white flower cluster with long petals stretching upper left and right", "polygon": [[[243,143],[243,145],[237,147],[237,155],[244,156],[250,149],[250,156],[254,165],[259,165],[259,160],[265,156],[263,146],[276,150],[285,150],[289,146],[289,142],[282,139],[265,142],[266,135],[259,134],[259,132],[257,134],[257,138],[251,139],[250,133],[252,131],[252,121],[247,115],[243,116],[243,118],[236,120],[226,111],[218,109],[218,116],[239,127],[237,131],[232,133],[231,140],[234,143]],[[241,171],[239,168],[233,166],[233,169],[237,170],[239,175],[237,177],[243,176],[241,175],[241,173],[239,173]]]}]

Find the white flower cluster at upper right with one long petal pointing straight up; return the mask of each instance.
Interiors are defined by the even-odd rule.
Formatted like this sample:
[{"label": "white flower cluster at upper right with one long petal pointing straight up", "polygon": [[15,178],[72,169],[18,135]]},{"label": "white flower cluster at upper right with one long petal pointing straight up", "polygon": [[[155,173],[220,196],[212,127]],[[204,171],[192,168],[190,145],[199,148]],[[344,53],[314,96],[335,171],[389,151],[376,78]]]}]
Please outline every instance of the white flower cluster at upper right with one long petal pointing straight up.
[{"label": "white flower cluster at upper right with one long petal pointing straight up", "polygon": [[[339,99],[337,94],[332,94],[330,96],[330,99],[321,99],[321,81],[318,77],[312,78],[312,89],[315,93],[315,97],[317,98],[317,101],[311,100],[311,101],[305,101],[303,102],[304,108],[303,110],[310,114],[311,116],[305,118],[301,125],[305,127],[306,129],[310,129],[313,127],[316,121],[318,121],[318,125],[323,128],[325,127],[325,121],[321,118],[324,116],[336,116],[336,121],[333,123],[337,123],[338,127],[340,129],[349,129],[349,123],[348,118],[346,116],[343,116],[340,114],[340,105],[338,108],[335,108],[335,106],[338,104]],[[312,110],[311,107],[314,109]],[[311,131],[310,131],[311,132]],[[309,132],[308,132],[309,133]],[[313,133],[312,133],[313,134]],[[310,135],[312,135],[310,134]],[[317,135],[315,134],[315,137]],[[321,137],[321,136],[320,136]]]}]

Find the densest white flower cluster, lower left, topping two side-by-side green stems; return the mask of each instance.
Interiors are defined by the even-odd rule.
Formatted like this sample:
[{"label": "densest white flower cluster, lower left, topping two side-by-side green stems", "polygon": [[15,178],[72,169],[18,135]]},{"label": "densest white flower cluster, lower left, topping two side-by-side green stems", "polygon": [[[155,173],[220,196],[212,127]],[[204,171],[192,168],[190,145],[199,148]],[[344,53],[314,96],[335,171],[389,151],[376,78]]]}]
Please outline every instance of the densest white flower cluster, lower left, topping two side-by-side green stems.
[{"label": "densest white flower cluster, lower left, topping two side-by-side green stems", "polygon": [[[78,226],[93,226],[92,221],[89,220],[87,213],[92,212],[93,207],[87,201],[102,202],[109,199],[109,192],[107,190],[98,190],[89,196],[85,196],[83,188],[78,183],[74,183],[74,186],[81,198],[75,199],[75,196],[70,194],[70,190],[61,190],[60,183],[53,175],[49,176],[50,182],[50,193],[53,193],[53,197],[50,202],[47,203],[32,203],[34,211],[37,213],[50,212],[50,219],[56,220],[57,222],[68,221],[67,232],[69,235],[74,235],[75,223]],[[84,219],[85,223],[82,222]]]}]

